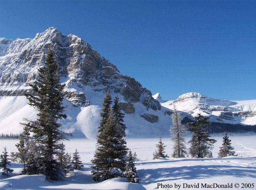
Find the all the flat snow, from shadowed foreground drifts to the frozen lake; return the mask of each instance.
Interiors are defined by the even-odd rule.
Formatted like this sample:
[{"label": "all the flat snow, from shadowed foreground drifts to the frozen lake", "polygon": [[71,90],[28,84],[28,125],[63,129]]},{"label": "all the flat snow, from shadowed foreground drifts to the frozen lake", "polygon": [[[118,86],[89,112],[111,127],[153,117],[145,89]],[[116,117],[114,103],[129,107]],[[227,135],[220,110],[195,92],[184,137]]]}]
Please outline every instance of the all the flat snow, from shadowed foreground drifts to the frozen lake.
[{"label": "all the flat snow, from shadowed foreground drifts to the frozen lake", "polygon": [[[94,140],[71,139],[65,142],[66,150],[73,153],[75,148],[80,152],[85,171],[74,171],[64,181],[47,182],[43,175],[17,175],[21,166],[12,163],[14,173],[10,178],[0,177],[0,189],[88,189],[88,190],[153,190],[153,189],[224,189],[214,188],[218,185],[228,185],[229,189],[256,189],[256,136],[230,136],[231,143],[238,156],[217,158],[222,144],[221,136],[213,149],[214,158],[207,159],[166,159],[152,160],[157,138],[127,139],[127,147],[136,152],[141,161],[136,162],[140,175],[140,183],[126,183],[125,179],[115,178],[104,182],[92,181],[90,160],[95,150]],[[189,137],[188,137],[189,139]],[[0,148],[7,147],[8,152],[16,151],[17,139],[0,140]],[[172,153],[170,138],[164,138],[166,153]],[[238,183],[238,184],[236,184]],[[254,187],[253,184],[254,183]],[[208,188],[207,185],[213,185]],[[162,186],[161,186],[162,185]],[[175,186],[176,185],[176,186]],[[196,185],[196,186],[189,186]],[[232,187],[231,187],[232,185]],[[235,188],[235,186],[238,188]],[[244,186],[245,188],[242,188]],[[251,188],[249,188],[249,186]],[[161,188],[162,187],[162,188]]]}]

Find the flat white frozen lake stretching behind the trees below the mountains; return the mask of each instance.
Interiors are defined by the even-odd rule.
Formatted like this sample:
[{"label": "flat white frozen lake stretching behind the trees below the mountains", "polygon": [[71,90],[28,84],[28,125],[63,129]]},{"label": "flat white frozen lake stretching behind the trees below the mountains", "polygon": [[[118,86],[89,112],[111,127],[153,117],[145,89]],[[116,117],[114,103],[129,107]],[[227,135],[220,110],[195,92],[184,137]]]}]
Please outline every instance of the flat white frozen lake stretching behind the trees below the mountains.
[{"label": "flat white frozen lake stretching behind the trees below the mountains", "polygon": [[[212,136],[217,140],[214,144],[213,157],[217,157],[220,146],[222,145],[222,136]],[[234,151],[240,157],[256,157],[256,135],[248,136],[229,136],[231,139]],[[190,137],[186,137],[189,141]],[[132,152],[136,152],[140,160],[152,160],[153,153],[156,150],[156,144],[158,144],[159,138],[128,138],[127,147],[131,148]],[[168,155],[172,154],[173,142],[171,138],[163,138],[162,141],[166,145],[165,152]],[[15,144],[18,139],[0,139],[0,151],[2,152],[3,147],[7,147],[8,152],[16,152],[17,148]],[[96,140],[90,140],[86,138],[70,139],[64,141],[66,145],[66,151],[68,153],[74,153],[75,149],[80,152],[82,162],[89,163],[93,158],[94,151],[96,150]],[[189,147],[189,145],[187,145]]]}]

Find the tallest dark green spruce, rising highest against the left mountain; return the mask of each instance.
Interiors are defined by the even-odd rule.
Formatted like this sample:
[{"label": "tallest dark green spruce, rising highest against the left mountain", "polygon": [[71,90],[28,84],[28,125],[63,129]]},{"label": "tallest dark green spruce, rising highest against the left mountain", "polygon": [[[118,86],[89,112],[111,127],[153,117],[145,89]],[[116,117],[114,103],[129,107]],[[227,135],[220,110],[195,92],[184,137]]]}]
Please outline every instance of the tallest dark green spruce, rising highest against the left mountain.
[{"label": "tallest dark green spruce, rising highest against the left mountain", "polygon": [[[52,49],[48,51],[45,66],[38,69],[37,80],[31,84],[35,96],[25,94],[28,104],[38,111],[38,118],[31,125],[34,141],[33,150],[29,159],[28,174],[44,174],[46,180],[61,180],[64,172],[60,163],[56,160],[56,154],[61,147],[61,141],[65,139],[60,132],[59,119],[65,119],[64,86],[60,84],[60,67],[55,60]],[[39,152],[38,152],[39,151]]]}]

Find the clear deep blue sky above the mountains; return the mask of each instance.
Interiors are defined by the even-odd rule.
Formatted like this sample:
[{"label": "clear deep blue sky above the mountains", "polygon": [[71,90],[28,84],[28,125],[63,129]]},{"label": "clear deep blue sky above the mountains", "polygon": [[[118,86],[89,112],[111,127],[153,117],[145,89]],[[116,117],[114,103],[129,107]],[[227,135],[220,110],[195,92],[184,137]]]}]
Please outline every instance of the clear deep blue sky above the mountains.
[{"label": "clear deep blue sky above the mountains", "polygon": [[0,37],[50,26],[164,100],[256,99],[256,1],[0,1]]}]

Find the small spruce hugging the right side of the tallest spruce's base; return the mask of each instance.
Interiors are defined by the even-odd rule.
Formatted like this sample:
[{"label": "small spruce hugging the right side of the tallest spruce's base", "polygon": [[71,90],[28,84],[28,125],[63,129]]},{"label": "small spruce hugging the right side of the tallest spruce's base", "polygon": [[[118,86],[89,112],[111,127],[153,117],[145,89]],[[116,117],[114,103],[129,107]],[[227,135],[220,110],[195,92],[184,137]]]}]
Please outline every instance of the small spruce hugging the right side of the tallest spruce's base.
[{"label": "small spruce hugging the right side of the tallest spruce's base", "polygon": [[64,170],[65,175],[67,175],[70,171],[73,171],[71,165],[71,155],[65,153],[65,145],[63,142],[61,143],[60,150],[57,154],[57,160],[61,165],[61,168]]}]

